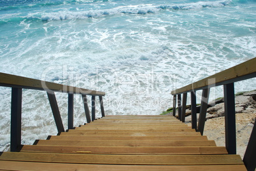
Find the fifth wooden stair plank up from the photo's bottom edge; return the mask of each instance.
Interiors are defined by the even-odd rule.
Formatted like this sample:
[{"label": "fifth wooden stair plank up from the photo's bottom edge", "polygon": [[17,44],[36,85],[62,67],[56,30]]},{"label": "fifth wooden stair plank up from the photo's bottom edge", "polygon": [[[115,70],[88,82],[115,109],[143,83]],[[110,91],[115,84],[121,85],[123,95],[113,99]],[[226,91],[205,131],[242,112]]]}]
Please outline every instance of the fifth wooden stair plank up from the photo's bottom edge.
[{"label": "fifth wooden stair plank up from the photo's bottom edge", "polygon": [[206,136],[50,136],[50,140],[208,140]]}]

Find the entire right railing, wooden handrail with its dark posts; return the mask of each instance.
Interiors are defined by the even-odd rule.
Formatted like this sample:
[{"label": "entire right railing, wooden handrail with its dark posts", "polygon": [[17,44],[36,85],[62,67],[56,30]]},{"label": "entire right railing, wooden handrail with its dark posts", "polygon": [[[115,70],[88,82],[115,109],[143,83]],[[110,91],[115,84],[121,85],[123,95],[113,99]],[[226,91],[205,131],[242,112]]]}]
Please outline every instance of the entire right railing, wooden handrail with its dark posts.
[{"label": "entire right railing, wooden handrail with its dark posts", "polygon": [[[231,67],[225,71],[218,72],[213,76],[204,78],[200,81],[184,86],[171,92],[173,95],[173,116],[176,115],[176,99],[178,96],[178,119],[185,122],[185,111],[187,104],[187,93],[190,92],[191,98],[191,117],[192,128],[197,132],[204,132],[204,123],[206,121],[206,111],[210,88],[215,86],[224,86],[224,104],[225,104],[225,147],[229,154],[236,154],[236,116],[235,116],[235,95],[234,82],[256,77],[256,58],[248,60],[242,64]],[[196,91],[203,90],[201,99],[201,108],[197,126],[196,113]],[[181,94],[182,101],[181,101]],[[181,104],[182,103],[182,104]],[[247,170],[255,170],[256,158],[256,127],[253,126],[252,134],[245,151],[243,161]]]}]

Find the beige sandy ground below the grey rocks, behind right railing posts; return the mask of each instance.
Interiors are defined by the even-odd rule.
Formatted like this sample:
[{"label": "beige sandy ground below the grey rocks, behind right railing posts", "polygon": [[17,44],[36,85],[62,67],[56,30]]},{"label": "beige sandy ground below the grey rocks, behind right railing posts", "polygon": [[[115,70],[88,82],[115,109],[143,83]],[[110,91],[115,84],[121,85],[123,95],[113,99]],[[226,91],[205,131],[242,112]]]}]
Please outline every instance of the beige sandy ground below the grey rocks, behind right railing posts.
[{"label": "beige sandy ground below the grey rocks, behind right railing posts", "polygon": [[[256,111],[253,113],[236,114],[236,151],[242,159],[252,132],[255,118]],[[187,123],[187,125],[191,127],[191,123]],[[206,135],[209,140],[215,140],[217,146],[225,146],[224,117],[207,120],[204,126],[204,135]]]}]

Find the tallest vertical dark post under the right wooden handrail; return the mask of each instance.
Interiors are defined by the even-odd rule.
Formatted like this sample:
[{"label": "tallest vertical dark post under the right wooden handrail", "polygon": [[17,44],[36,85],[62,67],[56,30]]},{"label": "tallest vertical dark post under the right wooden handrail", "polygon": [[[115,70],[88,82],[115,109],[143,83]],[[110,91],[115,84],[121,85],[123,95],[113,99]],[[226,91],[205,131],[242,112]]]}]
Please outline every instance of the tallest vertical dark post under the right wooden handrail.
[{"label": "tallest vertical dark post under the right wooden handrail", "polygon": [[229,154],[236,154],[236,111],[234,83],[224,85],[225,146]]}]

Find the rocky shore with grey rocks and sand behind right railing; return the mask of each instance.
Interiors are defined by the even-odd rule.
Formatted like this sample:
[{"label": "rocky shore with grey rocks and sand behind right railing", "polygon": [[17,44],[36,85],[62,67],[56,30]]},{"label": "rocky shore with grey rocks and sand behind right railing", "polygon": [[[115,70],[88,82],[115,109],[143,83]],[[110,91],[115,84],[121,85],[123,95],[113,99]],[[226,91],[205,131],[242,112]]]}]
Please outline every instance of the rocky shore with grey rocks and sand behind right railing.
[{"label": "rocky shore with grey rocks and sand behind right railing", "polygon": [[[236,136],[237,154],[243,158],[248,139],[256,120],[256,90],[238,93],[235,98],[236,107]],[[197,106],[197,121],[199,106]],[[176,116],[178,117],[178,116]],[[186,110],[185,123],[191,127],[191,111]],[[210,140],[215,140],[217,146],[225,146],[225,120],[224,98],[219,98],[209,103],[204,135]]]}]

